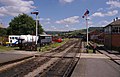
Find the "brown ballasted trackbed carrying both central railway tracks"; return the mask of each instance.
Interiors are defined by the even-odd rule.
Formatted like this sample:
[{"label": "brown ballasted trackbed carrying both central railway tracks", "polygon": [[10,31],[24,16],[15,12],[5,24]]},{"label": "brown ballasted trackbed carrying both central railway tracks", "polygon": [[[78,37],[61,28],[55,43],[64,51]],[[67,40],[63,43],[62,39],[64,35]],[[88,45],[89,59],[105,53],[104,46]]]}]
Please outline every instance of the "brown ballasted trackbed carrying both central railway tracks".
[{"label": "brown ballasted trackbed carrying both central railway tracks", "polygon": [[54,70],[61,70],[55,71],[57,72],[56,74],[66,76],[66,71],[70,73],[78,62],[80,56],[79,45],[81,45],[79,40],[70,40],[61,47],[50,52],[34,54],[35,58],[33,60],[16,65],[15,67],[11,67],[9,70],[2,71],[0,72],[0,76],[7,77],[9,75],[9,77],[40,77],[41,75],[47,75],[46,73],[53,68]]}]

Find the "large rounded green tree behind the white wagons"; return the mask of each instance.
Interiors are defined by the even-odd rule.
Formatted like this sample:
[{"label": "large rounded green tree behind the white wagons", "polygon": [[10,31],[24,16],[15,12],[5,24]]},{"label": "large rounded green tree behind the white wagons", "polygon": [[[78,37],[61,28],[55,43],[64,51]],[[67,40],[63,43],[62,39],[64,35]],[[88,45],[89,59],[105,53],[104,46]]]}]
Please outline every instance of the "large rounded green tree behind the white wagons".
[{"label": "large rounded green tree behind the white wagons", "polygon": [[[32,17],[27,14],[20,14],[9,23],[7,28],[8,35],[27,35],[36,33],[36,22]],[[43,32],[42,26],[38,24],[39,34]]]}]

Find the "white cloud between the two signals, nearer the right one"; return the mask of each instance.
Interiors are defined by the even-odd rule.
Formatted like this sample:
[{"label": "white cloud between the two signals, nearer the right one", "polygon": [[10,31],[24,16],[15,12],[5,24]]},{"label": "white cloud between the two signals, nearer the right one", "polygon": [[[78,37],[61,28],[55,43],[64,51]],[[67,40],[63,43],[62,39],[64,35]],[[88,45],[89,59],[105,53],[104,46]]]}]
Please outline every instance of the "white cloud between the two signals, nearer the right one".
[{"label": "white cloud between the two signals, nearer the right one", "polygon": [[69,17],[60,21],[56,21],[57,24],[75,24],[79,23],[79,16]]}]

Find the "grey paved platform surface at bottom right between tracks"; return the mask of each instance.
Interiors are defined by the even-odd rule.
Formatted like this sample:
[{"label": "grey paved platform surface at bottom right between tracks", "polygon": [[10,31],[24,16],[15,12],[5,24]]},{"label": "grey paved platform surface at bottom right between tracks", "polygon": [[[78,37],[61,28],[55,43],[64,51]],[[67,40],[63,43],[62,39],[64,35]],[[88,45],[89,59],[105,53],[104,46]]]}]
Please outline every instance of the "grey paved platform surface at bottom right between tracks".
[{"label": "grey paved platform surface at bottom right between tracks", "polygon": [[103,54],[82,54],[71,77],[120,77],[120,65]]}]

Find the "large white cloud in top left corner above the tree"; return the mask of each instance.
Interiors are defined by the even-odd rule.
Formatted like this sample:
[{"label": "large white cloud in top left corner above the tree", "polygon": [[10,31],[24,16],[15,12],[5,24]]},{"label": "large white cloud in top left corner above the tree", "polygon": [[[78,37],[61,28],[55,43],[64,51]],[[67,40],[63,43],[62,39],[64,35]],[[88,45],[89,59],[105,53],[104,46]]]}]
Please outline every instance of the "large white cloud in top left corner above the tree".
[{"label": "large white cloud in top left corner above the tree", "polygon": [[0,7],[0,16],[10,15],[17,16],[21,13],[29,13],[35,7],[33,1],[25,0],[0,0],[3,5]]}]

